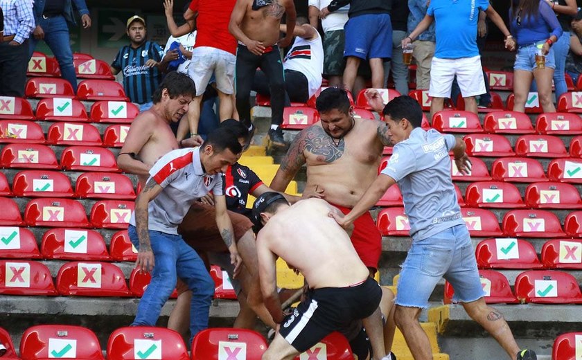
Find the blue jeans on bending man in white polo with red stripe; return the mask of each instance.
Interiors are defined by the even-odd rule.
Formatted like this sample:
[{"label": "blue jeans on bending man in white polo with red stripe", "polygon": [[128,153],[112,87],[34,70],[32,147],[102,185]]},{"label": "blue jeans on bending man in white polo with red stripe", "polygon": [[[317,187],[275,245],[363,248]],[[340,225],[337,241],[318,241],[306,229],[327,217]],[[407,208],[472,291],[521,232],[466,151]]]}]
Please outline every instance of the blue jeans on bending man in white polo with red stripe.
[{"label": "blue jeans on bending man in white polo with red stripe", "polygon": [[[130,225],[128,233],[132,244],[139,249],[135,227]],[[139,300],[132,326],[156,325],[161,307],[170,298],[179,277],[193,293],[190,305],[192,340],[198,332],[208,327],[214,281],[200,256],[182,240],[180,235],[150,230],[150,243],[155,259],[152,281]]]}]

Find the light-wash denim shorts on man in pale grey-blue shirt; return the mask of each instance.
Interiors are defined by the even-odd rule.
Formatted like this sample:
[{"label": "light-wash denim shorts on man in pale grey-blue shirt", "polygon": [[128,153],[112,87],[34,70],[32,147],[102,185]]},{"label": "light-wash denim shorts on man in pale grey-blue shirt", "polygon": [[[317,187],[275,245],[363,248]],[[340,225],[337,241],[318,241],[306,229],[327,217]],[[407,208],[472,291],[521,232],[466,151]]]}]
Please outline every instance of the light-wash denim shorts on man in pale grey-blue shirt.
[{"label": "light-wash denim shorts on man in pale grey-blue shirt", "polygon": [[412,242],[400,271],[396,305],[427,308],[441,278],[455,289],[455,302],[470,303],[485,296],[465,224]]}]

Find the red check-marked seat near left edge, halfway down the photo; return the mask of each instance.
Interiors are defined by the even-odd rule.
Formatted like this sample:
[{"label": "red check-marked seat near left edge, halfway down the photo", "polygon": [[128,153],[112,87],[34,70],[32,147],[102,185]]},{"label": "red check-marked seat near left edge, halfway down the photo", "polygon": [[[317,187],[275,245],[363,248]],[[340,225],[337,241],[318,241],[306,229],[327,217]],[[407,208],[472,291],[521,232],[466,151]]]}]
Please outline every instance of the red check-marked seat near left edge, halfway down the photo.
[{"label": "red check-marked seat near left edge, halfway down the photo", "polygon": [[69,177],[58,171],[22,170],[12,180],[12,190],[18,197],[73,197]]}]

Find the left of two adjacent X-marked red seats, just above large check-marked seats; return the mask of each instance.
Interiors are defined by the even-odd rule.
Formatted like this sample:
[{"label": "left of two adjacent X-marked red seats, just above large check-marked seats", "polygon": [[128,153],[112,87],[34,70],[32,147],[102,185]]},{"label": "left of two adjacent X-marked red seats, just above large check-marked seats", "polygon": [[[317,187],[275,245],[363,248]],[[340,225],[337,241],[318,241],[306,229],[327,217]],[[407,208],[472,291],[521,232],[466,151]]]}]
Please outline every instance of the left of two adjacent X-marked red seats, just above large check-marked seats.
[{"label": "left of two adjacent X-marked red seats, just above large check-marked seats", "polygon": [[32,199],[26,204],[24,219],[28,226],[87,228],[87,214],[80,202],[73,199],[47,197]]}]

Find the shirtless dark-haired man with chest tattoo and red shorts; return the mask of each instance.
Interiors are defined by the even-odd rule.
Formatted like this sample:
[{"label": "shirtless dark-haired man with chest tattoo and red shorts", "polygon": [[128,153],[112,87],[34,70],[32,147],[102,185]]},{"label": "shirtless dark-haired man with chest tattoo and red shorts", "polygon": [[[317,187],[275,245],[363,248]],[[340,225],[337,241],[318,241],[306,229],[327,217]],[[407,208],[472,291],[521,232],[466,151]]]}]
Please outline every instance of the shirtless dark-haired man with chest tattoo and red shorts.
[{"label": "shirtless dark-haired man with chest tattoo and red shorts", "polygon": [[[270,188],[275,191],[287,188],[307,163],[303,197],[323,197],[342,213],[349,213],[376,179],[382,150],[390,145],[388,129],[378,120],[354,118],[343,89],[321,91],[316,107],[321,120],[297,134]],[[382,252],[382,235],[369,213],[354,225],[353,246],[373,275]]]}]

